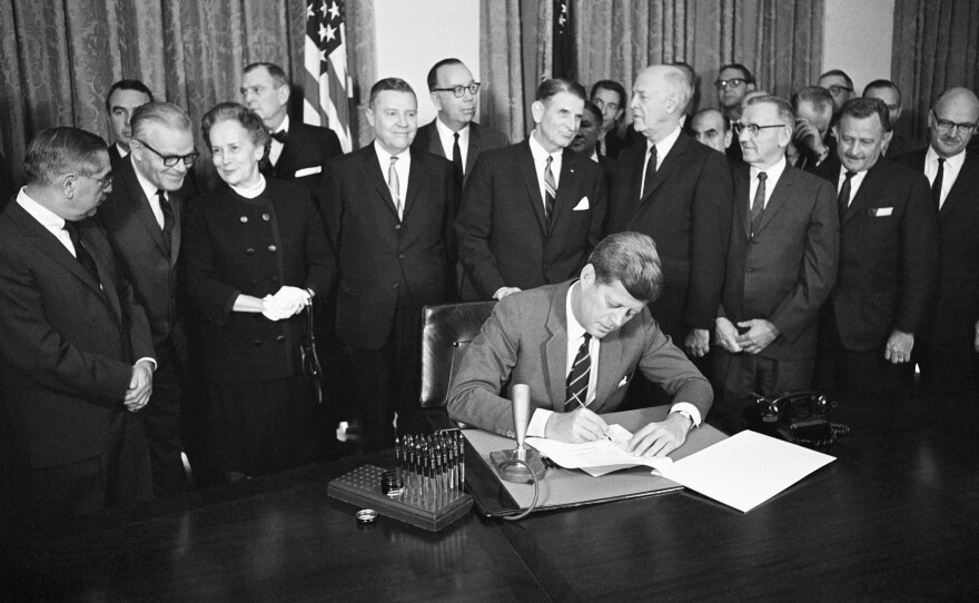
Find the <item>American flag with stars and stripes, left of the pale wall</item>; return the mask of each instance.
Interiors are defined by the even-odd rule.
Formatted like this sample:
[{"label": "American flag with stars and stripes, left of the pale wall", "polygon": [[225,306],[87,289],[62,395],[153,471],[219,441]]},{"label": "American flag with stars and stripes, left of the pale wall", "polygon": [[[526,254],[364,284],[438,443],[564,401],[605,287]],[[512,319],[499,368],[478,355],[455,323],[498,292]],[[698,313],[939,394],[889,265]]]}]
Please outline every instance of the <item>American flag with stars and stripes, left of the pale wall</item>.
[{"label": "American flag with stars and stripes, left of the pale wall", "polygon": [[340,139],[344,152],[353,148],[348,97],[344,0],[309,0],[306,4],[306,79],[303,120],[327,126]]}]

